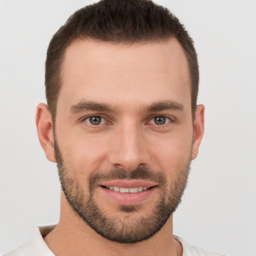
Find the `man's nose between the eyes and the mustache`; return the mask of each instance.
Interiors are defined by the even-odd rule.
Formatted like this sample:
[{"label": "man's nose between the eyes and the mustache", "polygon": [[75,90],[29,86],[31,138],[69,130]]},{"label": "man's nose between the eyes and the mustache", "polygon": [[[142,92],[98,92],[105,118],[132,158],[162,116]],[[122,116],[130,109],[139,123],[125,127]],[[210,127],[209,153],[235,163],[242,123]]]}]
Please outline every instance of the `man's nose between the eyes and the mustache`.
[{"label": "man's nose between the eyes and the mustache", "polygon": [[136,124],[126,124],[118,128],[111,141],[109,161],[111,165],[131,171],[137,166],[149,163],[149,147],[143,131]]}]

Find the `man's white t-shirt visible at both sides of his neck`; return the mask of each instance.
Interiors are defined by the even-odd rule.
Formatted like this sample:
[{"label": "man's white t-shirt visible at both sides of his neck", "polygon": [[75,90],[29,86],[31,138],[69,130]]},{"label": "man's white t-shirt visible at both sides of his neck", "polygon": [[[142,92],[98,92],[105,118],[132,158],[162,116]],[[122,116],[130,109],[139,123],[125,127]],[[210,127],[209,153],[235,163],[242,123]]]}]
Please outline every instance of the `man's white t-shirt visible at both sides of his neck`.
[{"label": "man's white t-shirt visible at both sides of his neck", "polygon": [[[49,233],[55,226],[39,226],[36,227],[32,237],[23,245],[8,252],[4,256],[55,256],[43,240],[43,236]],[[221,256],[222,254],[210,252],[200,249],[196,246],[189,245],[185,240],[179,236],[174,235],[182,247],[182,256]],[[223,256],[223,255],[222,255]]]}]

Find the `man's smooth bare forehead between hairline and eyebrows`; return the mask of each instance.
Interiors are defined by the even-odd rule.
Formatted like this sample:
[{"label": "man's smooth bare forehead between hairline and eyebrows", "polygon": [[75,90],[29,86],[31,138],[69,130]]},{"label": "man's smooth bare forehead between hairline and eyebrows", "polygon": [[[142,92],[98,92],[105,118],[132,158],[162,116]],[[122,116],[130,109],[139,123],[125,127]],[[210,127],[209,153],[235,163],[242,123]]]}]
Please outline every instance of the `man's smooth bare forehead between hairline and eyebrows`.
[{"label": "man's smooth bare forehead between hairline and eyebrows", "polygon": [[188,64],[175,38],[149,43],[74,40],[65,50],[59,100],[120,105],[183,101],[190,106]]}]

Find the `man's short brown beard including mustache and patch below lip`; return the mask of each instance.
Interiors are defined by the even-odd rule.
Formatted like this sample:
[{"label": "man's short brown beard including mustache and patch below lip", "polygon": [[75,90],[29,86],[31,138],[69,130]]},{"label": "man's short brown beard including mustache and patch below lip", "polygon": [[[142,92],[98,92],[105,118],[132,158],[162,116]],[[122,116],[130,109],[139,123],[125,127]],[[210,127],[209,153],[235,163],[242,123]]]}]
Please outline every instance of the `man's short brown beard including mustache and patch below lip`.
[{"label": "man's short brown beard including mustache and patch below lip", "polygon": [[[61,188],[74,213],[98,234],[118,243],[143,241],[162,228],[181,201],[187,183],[191,158],[178,169],[178,176],[169,187],[167,187],[166,176],[162,172],[156,172],[147,167],[137,167],[130,172],[115,168],[109,171],[96,170],[90,174],[88,177],[88,194],[85,194],[78,178],[70,175],[72,166],[68,167],[64,163],[56,141],[54,141],[54,150]],[[104,208],[95,201],[94,190],[100,180],[111,179],[144,179],[157,182],[160,198],[157,203],[152,205],[151,212],[139,218],[133,217],[132,213],[143,208],[142,204],[119,205],[119,211],[124,214],[123,219],[114,215],[107,215]]]}]

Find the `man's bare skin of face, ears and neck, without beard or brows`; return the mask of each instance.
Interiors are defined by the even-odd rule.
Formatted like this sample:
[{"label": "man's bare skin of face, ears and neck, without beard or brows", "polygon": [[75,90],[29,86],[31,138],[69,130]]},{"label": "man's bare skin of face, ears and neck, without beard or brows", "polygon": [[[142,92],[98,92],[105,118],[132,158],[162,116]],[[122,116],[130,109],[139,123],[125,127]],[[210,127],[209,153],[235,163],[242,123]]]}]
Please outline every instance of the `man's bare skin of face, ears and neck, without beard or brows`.
[{"label": "man's bare skin of face, ears and neck, without beard or brows", "polygon": [[[88,192],[88,176],[96,169],[114,167],[131,171],[139,165],[160,170],[167,184],[178,176],[179,167],[194,159],[204,130],[204,106],[198,105],[194,123],[188,64],[175,38],[143,44],[114,44],[94,40],[73,41],[65,51],[62,88],[57,100],[55,135],[70,175]],[[70,111],[79,102],[93,101],[112,107],[108,110]],[[155,102],[174,102],[182,109],[150,110]],[[88,115],[101,115],[99,125]],[[163,125],[155,116],[166,116]],[[47,106],[36,111],[39,141],[48,160],[55,162],[53,125]],[[156,187],[141,202],[132,217],[151,211],[160,191]],[[127,213],[95,189],[97,203],[108,215],[125,219]],[[182,246],[172,235],[172,215],[151,238],[121,244],[103,238],[79,218],[61,192],[60,219],[44,237],[55,255],[181,255]]]}]

